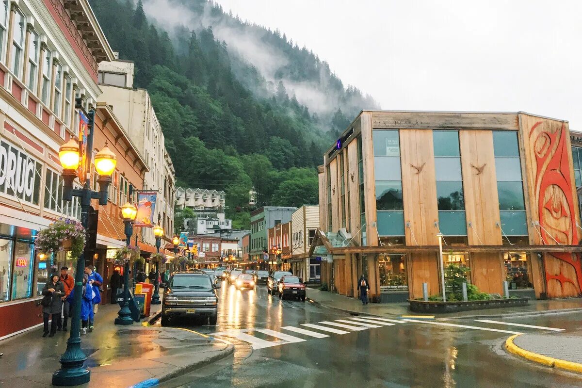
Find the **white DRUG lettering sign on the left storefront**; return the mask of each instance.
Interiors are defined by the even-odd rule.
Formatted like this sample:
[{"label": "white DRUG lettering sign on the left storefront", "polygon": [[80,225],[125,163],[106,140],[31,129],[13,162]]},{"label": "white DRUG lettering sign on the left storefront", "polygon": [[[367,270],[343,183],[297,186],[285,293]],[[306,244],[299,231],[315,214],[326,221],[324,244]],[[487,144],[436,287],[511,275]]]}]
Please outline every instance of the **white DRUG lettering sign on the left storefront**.
[{"label": "white DRUG lettering sign on the left storefront", "polygon": [[38,204],[42,165],[5,141],[0,145],[0,192]]}]

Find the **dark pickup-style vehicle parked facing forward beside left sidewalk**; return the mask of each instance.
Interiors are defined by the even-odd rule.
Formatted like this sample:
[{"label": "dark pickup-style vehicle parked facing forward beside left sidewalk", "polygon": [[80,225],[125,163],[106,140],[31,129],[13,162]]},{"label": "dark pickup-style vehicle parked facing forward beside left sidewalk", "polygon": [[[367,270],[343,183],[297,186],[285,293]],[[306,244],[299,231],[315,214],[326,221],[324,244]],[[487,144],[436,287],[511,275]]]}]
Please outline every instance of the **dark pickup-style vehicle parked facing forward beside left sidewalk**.
[{"label": "dark pickup-style vehicle parked facing forward beside left sidewalk", "polygon": [[208,318],[210,325],[216,325],[216,290],[219,288],[220,284],[214,284],[211,277],[200,270],[174,273],[164,291],[162,325],[180,316]]}]

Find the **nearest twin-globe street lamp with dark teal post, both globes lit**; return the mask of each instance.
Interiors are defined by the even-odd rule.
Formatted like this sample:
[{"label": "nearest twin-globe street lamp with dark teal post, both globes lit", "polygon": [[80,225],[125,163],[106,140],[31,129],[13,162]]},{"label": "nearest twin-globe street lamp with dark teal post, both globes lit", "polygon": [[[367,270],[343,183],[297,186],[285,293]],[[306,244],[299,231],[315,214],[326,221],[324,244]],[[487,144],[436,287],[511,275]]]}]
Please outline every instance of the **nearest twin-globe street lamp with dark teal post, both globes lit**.
[{"label": "nearest twin-globe street lamp with dark teal post, both globes lit", "polygon": [[[83,108],[83,101],[81,98],[75,99],[75,108],[82,111],[88,119],[87,129],[88,136],[87,141],[84,144],[86,149],[84,149],[84,155],[87,158],[84,160],[86,163],[83,166],[82,173],[86,173],[91,170],[91,165],[93,164],[93,133],[94,133],[94,123],[95,123],[95,111],[91,109],[86,112]],[[99,200],[100,205],[107,205],[108,198],[108,186],[111,183],[111,175],[113,170],[115,170],[116,158],[113,152],[109,151],[107,144],[101,152],[95,155],[95,170],[99,174],[97,181],[99,182],[99,191],[91,190],[91,180],[86,179],[83,188],[73,188],[73,181],[77,177],[77,169],[79,169],[80,164],[80,148],[81,144],[73,139],[69,140],[67,143],[63,144],[59,148],[59,161],[63,168],[62,178],[63,184],[63,201],[71,201],[74,197],[80,198],[81,205],[81,225],[88,230],[89,225],[89,212],[91,208],[91,200]],[[107,159],[107,162],[104,160]],[[97,229],[96,226],[91,225],[93,229]],[[69,339],[67,340],[67,348],[65,353],[59,359],[61,362],[61,369],[52,373],[52,385],[56,386],[73,386],[88,383],[91,380],[91,372],[84,366],[86,355],[81,350],[81,337],[80,337],[80,324],[81,324],[81,296],[83,294],[83,270],[85,267],[86,259],[90,258],[90,247],[85,245],[83,254],[77,260],[77,268],[75,271],[75,284],[74,284],[74,298],[73,298],[73,311],[71,314],[71,329],[69,334]]]}]

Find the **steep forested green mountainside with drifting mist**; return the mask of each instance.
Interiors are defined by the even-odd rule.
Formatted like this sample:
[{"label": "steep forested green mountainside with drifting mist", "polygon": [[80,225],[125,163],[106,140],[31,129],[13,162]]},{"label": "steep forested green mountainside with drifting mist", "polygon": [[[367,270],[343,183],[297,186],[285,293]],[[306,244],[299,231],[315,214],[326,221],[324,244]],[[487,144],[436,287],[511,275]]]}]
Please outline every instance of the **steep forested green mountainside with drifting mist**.
[{"label": "steep forested green mountainside with drifting mist", "polygon": [[249,226],[253,188],[258,206],[317,204],[325,148],[377,106],[285,35],[214,3],[90,3],[119,58],[135,62],[134,86],[150,92],[178,184],[225,190],[235,227]]}]

